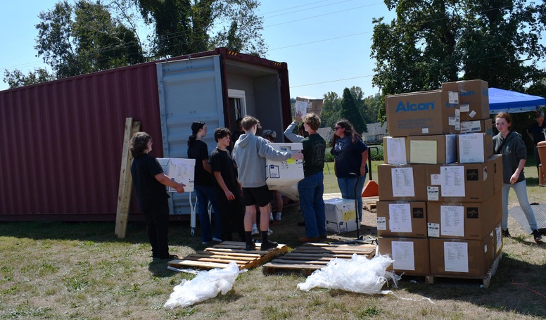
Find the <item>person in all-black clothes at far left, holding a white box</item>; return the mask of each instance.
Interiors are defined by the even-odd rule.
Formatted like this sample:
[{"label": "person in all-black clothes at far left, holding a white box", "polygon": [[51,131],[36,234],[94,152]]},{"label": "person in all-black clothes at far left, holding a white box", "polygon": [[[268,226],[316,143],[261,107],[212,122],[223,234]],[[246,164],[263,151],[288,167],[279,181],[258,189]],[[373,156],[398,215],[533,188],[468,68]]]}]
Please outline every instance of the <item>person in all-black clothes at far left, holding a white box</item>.
[{"label": "person in all-black clothes at far left, holding a white box", "polygon": [[170,196],[165,186],[184,192],[184,184],[171,180],[163,173],[158,160],[148,153],[152,151],[152,137],[146,132],[136,132],[129,142],[129,151],[134,159],[131,162],[131,175],[136,188],[139,207],[146,218],[146,233],[152,246],[152,257],[159,259],[176,259],[169,254],[167,233],[169,232]]}]

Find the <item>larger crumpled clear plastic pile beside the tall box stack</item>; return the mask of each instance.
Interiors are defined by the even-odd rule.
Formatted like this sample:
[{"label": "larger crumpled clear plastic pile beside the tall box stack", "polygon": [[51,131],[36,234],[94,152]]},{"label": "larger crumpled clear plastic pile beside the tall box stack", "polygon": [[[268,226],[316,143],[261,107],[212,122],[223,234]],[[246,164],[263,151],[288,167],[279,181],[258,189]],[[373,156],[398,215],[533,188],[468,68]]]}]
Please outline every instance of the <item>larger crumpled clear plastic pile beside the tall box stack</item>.
[{"label": "larger crumpled clear plastic pile beside the tall box stack", "polygon": [[313,272],[304,283],[298,283],[300,290],[329,288],[352,291],[355,293],[387,294],[390,290],[381,290],[389,279],[395,286],[400,276],[386,271],[393,263],[388,255],[376,255],[372,259],[353,254],[350,260],[334,259],[326,267]]}]

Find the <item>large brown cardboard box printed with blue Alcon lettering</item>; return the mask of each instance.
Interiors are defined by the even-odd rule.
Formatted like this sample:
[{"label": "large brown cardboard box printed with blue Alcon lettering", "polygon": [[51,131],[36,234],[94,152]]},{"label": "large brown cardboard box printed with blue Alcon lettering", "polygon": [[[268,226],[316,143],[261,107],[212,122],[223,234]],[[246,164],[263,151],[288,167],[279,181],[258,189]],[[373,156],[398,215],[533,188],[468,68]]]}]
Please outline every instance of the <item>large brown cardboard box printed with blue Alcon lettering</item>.
[{"label": "large brown cardboard box printed with blue Alcon lettering", "polygon": [[457,93],[423,91],[385,97],[387,131],[390,136],[458,134]]}]

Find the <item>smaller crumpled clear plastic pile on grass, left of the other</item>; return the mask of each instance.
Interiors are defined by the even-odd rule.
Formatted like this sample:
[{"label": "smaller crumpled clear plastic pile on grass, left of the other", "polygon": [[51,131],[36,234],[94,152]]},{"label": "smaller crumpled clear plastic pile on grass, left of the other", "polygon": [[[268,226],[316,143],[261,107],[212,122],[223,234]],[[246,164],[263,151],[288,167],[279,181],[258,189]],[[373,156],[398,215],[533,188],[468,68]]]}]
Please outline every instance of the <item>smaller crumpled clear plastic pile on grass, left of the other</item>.
[{"label": "smaller crumpled clear plastic pile on grass, left of the other", "polygon": [[163,307],[165,309],[183,308],[216,297],[220,292],[225,295],[233,288],[240,272],[235,262],[229,262],[224,269],[200,271],[195,278],[184,279],[182,283],[175,286],[174,292]]}]

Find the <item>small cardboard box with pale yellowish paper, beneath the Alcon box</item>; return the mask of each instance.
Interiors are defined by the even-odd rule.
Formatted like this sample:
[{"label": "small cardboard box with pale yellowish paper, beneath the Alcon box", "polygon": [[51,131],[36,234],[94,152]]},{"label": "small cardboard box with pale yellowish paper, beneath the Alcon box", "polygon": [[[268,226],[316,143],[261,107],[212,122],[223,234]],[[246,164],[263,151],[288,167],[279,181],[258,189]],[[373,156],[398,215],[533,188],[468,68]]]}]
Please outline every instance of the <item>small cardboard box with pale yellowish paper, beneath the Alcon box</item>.
[{"label": "small cardboard box with pale yellowish paper, beneath the Alcon box", "polygon": [[408,136],[407,140],[409,163],[437,164],[457,161],[456,134]]}]

